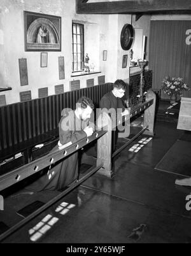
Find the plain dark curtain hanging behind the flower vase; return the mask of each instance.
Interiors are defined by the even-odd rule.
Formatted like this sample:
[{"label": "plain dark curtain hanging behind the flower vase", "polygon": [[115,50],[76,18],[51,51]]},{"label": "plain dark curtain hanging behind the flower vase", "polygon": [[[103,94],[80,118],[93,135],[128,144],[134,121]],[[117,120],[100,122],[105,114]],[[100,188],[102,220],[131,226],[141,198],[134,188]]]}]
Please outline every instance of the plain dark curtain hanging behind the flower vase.
[{"label": "plain dark curtain hanging behind the flower vase", "polygon": [[[160,89],[168,75],[183,78],[191,88],[191,37],[186,32],[191,33],[191,20],[151,21],[149,64],[154,89]],[[183,96],[191,97],[191,90]],[[162,93],[161,97],[169,96]]]}]

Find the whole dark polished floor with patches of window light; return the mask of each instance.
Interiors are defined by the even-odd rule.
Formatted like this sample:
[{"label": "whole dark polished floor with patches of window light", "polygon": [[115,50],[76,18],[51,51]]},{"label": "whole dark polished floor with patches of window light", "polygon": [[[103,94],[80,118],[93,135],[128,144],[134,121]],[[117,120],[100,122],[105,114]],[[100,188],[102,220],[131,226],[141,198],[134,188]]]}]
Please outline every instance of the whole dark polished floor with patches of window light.
[{"label": "whole dark polished floor with patches of window light", "polygon": [[[178,170],[155,169],[183,136],[176,125],[157,120],[153,139],[144,144],[150,137],[141,135],[120,153],[112,179],[94,174],[3,243],[190,243],[191,211],[185,205],[191,187],[174,184],[182,178]],[[144,146],[135,152],[138,145]],[[14,225],[23,219],[15,212],[26,203],[46,203],[58,193],[13,194],[1,222]]]}]

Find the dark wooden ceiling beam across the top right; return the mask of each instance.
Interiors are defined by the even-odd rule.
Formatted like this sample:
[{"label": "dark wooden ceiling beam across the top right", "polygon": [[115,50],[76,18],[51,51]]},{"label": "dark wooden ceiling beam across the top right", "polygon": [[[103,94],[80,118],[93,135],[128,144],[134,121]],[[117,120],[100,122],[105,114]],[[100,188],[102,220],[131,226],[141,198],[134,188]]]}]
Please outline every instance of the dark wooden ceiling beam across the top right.
[{"label": "dark wooden ceiling beam across the top right", "polygon": [[138,0],[87,3],[76,0],[76,13],[109,14],[109,13],[156,13],[159,11],[187,11],[191,13],[190,0]]}]

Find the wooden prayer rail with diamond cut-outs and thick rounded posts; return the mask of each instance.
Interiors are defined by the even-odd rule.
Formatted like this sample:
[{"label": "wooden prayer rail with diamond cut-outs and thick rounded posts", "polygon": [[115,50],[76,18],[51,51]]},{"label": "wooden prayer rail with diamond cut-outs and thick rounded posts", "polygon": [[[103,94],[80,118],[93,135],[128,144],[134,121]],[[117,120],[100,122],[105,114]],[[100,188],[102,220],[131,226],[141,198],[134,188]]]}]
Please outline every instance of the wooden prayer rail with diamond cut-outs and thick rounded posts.
[{"label": "wooden prayer rail with diamond cut-outs and thick rounded posts", "polygon": [[[132,110],[129,118],[134,117],[138,113],[145,112],[145,123],[144,127],[141,132],[136,134],[134,138],[130,139],[120,150],[117,151],[119,153],[122,151],[125,146],[129,145],[131,141],[137,138],[141,133],[145,132],[146,130],[150,131],[153,134],[153,123],[155,118],[155,94],[151,92],[149,94],[148,99],[145,103],[141,104],[135,110]],[[149,110],[149,111],[148,111]],[[124,120],[127,117],[124,117]],[[92,134],[89,138],[81,139],[77,141],[73,145],[67,146],[62,150],[56,150],[55,152],[48,153],[47,155],[41,157],[40,159],[34,160],[25,164],[25,166],[18,167],[17,169],[11,171],[10,173],[6,173],[0,176],[0,191],[4,190],[5,188],[10,187],[18,183],[18,181],[24,180],[25,178],[31,176],[34,173],[37,173],[44,169],[45,167],[54,164],[60,159],[68,157],[72,153],[80,150],[84,146],[88,145],[92,141],[97,140],[97,166],[103,166],[104,169],[100,171],[102,174],[106,174],[106,176],[111,176],[111,159],[117,153],[115,152],[111,155],[111,131],[108,129],[103,129],[103,127],[99,127],[97,131]]]}]

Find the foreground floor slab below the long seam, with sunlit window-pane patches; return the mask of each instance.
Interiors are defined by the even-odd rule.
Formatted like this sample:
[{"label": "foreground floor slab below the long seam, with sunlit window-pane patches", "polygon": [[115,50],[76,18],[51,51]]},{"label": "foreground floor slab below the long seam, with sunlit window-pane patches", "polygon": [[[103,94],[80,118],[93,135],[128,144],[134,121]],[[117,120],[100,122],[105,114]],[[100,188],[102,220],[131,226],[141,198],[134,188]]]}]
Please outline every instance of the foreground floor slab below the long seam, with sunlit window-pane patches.
[{"label": "foreground floor slab below the long seam, with sunlit window-pane patches", "polygon": [[[73,208],[63,215],[58,212],[61,204],[65,209],[69,205]],[[57,222],[48,231],[42,226],[38,228],[37,224],[48,215],[57,218]],[[131,238],[133,230],[141,224],[145,225],[144,232],[138,240]],[[48,222],[44,221],[44,225]],[[36,241],[32,241],[34,233],[29,234],[34,227],[41,234]],[[4,243],[187,243],[190,227],[190,218],[164,214],[143,204],[80,187]]]}]

